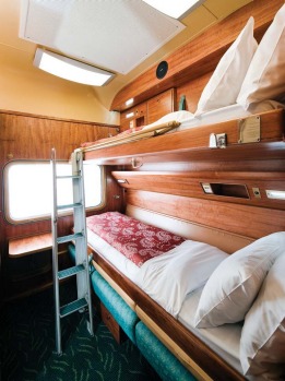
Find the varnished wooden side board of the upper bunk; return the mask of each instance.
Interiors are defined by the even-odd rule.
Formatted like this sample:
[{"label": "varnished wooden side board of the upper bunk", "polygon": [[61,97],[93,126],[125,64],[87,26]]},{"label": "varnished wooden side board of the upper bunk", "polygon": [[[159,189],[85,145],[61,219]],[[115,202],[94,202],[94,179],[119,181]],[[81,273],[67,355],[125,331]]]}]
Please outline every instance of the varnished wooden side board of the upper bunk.
[{"label": "varnished wooden side board of the upper bunk", "polygon": [[[99,164],[130,164],[131,157],[158,160],[239,160],[285,157],[284,110],[276,109],[260,114],[261,141],[239,144],[237,120],[189,128],[161,136],[117,146],[98,148],[85,153],[85,159],[95,159]],[[211,133],[226,133],[227,147],[209,148]],[[158,156],[158,157],[157,157]],[[161,156],[161,158],[159,158]],[[143,163],[142,162],[142,163]]]}]

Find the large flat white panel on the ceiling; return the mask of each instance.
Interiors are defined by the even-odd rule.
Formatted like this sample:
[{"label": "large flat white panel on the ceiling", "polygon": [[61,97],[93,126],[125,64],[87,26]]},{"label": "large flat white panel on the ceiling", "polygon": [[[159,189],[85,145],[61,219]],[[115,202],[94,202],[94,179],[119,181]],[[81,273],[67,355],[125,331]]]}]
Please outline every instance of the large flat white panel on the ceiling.
[{"label": "large flat white panel on the ceiling", "polygon": [[20,37],[122,74],[183,28],[141,0],[22,0]]}]

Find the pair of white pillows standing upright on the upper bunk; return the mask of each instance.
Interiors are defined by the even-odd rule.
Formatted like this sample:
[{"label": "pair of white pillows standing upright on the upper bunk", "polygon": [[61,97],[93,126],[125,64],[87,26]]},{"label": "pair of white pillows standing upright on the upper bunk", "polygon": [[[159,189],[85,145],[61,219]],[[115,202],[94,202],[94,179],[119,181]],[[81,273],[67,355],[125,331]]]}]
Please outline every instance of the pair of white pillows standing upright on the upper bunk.
[{"label": "pair of white pillows standing upright on the upper bunk", "polygon": [[285,100],[285,4],[258,45],[250,17],[218,62],[200,97],[195,117],[239,104],[246,110],[268,99]]}]

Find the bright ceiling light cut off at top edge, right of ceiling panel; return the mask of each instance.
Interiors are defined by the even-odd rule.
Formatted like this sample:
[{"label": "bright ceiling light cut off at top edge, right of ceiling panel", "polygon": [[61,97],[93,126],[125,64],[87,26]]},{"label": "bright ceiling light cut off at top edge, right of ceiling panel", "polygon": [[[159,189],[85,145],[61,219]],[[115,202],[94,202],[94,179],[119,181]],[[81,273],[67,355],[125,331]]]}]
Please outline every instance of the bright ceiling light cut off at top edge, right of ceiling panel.
[{"label": "bright ceiling light cut off at top edge, right of ceiling panel", "polygon": [[149,5],[155,8],[157,11],[167,14],[174,19],[182,19],[187,13],[200,5],[203,0],[143,0]]}]

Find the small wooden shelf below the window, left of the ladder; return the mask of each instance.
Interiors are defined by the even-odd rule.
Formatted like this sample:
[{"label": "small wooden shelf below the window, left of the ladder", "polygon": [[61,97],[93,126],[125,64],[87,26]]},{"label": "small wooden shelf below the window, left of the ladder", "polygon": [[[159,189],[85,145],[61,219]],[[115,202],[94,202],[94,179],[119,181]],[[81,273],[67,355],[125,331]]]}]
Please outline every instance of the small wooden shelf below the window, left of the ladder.
[{"label": "small wooden shelf below the window, left of the ladder", "polygon": [[11,239],[9,241],[9,257],[19,258],[36,252],[41,252],[52,247],[51,233],[40,234],[32,237]]}]

